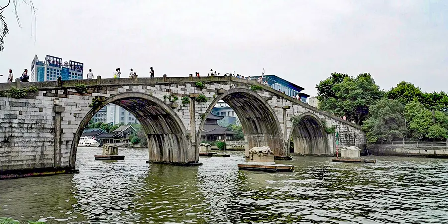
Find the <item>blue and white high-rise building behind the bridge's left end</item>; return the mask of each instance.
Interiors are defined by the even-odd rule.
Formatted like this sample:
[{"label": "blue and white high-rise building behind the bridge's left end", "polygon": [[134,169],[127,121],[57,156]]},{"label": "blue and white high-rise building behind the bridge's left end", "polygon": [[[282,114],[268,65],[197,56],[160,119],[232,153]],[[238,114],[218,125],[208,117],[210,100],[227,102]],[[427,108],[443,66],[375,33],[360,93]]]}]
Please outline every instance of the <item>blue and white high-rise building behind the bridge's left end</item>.
[{"label": "blue and white high-rise building behind the bridge's left end", "polygon": [[62,61],[62,58],[46,55],[45,61],[39,61],[37,55],[31,63],[30,82],[83,79],[84,64],[76,61]]}]

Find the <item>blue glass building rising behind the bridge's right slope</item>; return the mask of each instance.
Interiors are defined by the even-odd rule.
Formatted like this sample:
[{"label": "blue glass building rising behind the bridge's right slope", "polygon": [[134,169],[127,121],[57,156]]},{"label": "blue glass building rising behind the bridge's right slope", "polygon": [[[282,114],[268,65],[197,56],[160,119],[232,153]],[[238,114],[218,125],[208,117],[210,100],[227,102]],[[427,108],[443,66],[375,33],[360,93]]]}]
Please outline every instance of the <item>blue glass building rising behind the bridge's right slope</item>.
[{"label": "blue glass building rising behind the bridge's right slope", "polygon": [[[251,76],[251,79],[257,80],[261,76]],[[310,96],[306,93],[302,93],[305,88],[300,87],[294,83],[284,80],[276,75],[263,76],[263,82],[267,81],[269,86],[274,90],[280,90],[290,97],[295,97],[297,94],[300,96],[300,101],[307,103],[307,98]]]}]

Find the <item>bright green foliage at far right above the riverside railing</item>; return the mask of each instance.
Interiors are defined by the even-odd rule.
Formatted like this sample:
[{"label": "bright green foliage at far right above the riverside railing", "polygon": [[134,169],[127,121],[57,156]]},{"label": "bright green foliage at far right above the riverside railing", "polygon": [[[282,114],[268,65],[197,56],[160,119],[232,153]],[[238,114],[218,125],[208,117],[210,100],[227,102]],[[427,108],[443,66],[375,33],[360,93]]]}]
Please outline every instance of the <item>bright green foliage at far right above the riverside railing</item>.
[{"label": "bright green foliage at far right above the riverside railing", "polygon": [[448,116],[444,112],[430,111],[417,101],[405,106],[408,137],[416,141],[445,140],[448,137]]}]

